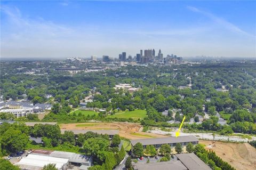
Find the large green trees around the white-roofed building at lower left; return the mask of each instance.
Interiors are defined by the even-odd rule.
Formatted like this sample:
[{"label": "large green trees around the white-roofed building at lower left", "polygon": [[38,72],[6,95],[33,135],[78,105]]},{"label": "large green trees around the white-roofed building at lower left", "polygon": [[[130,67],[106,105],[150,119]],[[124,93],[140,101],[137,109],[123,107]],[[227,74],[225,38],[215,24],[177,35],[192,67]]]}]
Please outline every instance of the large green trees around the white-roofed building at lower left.
[{"label": "large green trees around the white-roofed building at lower left", "polygon": [[[34,127],[28,127],[23,123],[3,123],[0,125],[0,131],[1,156],[25,150],[28,144],[31,146],[33,143],[29,141],[29,136],[42,137],[43,144],[39,146],[41,148],[54,149],[54,147],[59,147],[73,149],[77,147],[79,152],[92,156],[93,164],[97,165],[97,169],[111,170],[125,156],[124,148],[121,147],[121,150],[118,148],[121,142],[119,135],[115,135],[110,143],[107,134],[87,132],[85,134],[78,134],[78,137],[75,138],[74,133],[71,131],[65,131],[65,133],[61,134],[58,125],[36,124]],[[5,162],[5,160],[1,161]],[[47,166],[44,168],[49,169]],[[95,168],[93,166],[90,169]]]}]

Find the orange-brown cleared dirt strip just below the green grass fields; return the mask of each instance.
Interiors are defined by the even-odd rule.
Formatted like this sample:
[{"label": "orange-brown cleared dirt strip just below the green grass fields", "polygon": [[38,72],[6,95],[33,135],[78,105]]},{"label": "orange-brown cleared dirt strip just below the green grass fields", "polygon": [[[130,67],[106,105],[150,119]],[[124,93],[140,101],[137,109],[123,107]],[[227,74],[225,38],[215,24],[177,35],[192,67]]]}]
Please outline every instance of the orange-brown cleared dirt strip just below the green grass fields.
[{"label": "orange-brown cleared dirt strip just below the green grass fields", "polygon": [[[85,126],[76,126],[84,124]],[[86,126],[86,124],[88,126]],[[167,137],[154,133],[141,132],[142,126],[137,123],[73,123],[73,124],[60,124],[61,129],[117,129],[119,135],[127,139],[143,139],[150,137]]]}]

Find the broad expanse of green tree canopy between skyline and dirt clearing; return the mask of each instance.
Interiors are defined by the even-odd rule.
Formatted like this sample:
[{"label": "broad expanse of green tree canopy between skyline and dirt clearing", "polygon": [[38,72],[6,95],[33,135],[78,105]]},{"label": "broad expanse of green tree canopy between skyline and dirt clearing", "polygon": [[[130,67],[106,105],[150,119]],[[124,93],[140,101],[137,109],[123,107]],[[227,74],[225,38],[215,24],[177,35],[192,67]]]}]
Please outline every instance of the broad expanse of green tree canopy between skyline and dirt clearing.
[{"label": "broad expanse of green tree canopy between skyline and dirt clearing", "polygon": [[[21,63],[21,66],[31,68],[30,63]],[[1,73],[1,92],[5,99],[21,99],[22,94],[34,103],[53,103],[52,112],[43,121],[54,122],[86,122],[90,119],[106,121],[129,121],[133,119],[111,119],[106,115],[98,117],[83,117],[68,115],[71,111],[69,104],[77,107],[79,102],[93,93],[93,102],[87,107],[106,108],[115,114],[115,110],[146,109],[147,117],[140,120],[145,126],[179,126],[167,124],[172,120],[172,114],[163,116],[164,110],[180,109],[175,120],[185,122],[195,118],[196,114],[204,116],[204,111],[210,116],[202,124],[186,125],[188,129],[217,131],[222,134],[256,133],[256,68],[255,62],[223,62],[209,64],[180,64],[173,66],[127,66],[116,70],[79,73],[65,76],[53,69],[55,64],[45,70],[45,75],[25,75],[20,72],[4,70],[9,74]],[[45,67],[44,64],[35,67]],[[11,67],[10,67],[11,69]],[[17,75],[19,74],[19,75]],[[179,88],[190,83],[190,88]],[[114,90],[118,83],[129,83],[140,87],[140,91],[129,93],[123,90]],[[217,88],[225,87],[225,92]],[[52,97],[46,99],[45,95]],[[109,102],[111,100],[111,102]],[[205,106],[205,110],[203,110]],[[221,126],[219,112],[227,124]],[[182,115],[181,115],[182,114]]]}]

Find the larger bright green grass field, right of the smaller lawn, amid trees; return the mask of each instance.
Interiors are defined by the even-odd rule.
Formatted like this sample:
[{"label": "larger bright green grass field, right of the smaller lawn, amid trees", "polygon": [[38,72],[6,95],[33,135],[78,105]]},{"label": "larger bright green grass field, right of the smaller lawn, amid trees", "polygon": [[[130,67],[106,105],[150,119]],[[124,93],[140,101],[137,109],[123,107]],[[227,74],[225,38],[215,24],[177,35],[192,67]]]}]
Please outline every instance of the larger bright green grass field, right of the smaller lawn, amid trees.
[{"label": "larger bright green grass field, right of the smaller lawn, amid trees", "polygon": [[116,113],[115,115],[108,115],[107,117],[110,118],[132,118],[132,119],[141,119],[141,118],[145,118],[146,115],[146,110],[134,110],[134,111],[124,111],[124,112],[119,112]]}]

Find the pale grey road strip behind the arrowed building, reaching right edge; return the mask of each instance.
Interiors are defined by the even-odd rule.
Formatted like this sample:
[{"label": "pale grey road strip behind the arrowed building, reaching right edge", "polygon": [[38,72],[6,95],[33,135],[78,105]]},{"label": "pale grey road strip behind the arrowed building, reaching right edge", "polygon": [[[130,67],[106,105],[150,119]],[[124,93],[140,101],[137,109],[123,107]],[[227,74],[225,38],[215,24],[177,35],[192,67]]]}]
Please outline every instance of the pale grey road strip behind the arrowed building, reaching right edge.
[{"label": "pale grey road strip behind the arrowed building, reaching right edge", "polygon": [[[152,130],[151,133],[155,134],[171,134],[172,136],[175,136],[175,132],[165,132],[161,130]],[[212,133],[184,133],[180,132],[180,136],[187,136],[187,135],[194,135],[198,139],[205,139],[205,140],[215,140],[215,141],[233,141],[233,142],[248,142],[251,141],[247,138],[243,138],[240,136],[227,136],[227,135],[215,135],[213,136]],[[256,136],[252,136],[252,140],[256,140]]]}]

